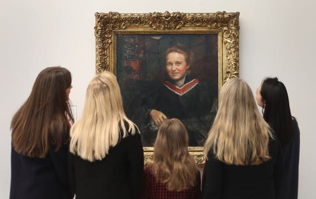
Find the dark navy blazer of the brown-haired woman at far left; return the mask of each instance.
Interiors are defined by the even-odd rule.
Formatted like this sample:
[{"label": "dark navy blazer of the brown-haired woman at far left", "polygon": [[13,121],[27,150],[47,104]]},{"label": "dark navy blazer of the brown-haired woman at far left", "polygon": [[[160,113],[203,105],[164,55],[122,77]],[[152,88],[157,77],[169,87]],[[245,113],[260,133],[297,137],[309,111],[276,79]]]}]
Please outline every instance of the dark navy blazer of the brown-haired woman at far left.
[{"label": "dark navy blazer of the brown-haired woman at far left", "polygon": [[45,158],[18,154],[11,144],[10,199],[73,199],[68,179],[68,145],[50,146]]}]

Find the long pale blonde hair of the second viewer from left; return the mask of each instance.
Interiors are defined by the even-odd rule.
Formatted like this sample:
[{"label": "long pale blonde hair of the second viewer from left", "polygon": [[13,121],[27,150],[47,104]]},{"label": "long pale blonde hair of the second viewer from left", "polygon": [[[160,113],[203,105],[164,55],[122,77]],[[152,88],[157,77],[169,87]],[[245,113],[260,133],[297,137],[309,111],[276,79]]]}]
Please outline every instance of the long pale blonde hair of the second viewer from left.
[{"label": "long pale blonde hair of the second viewer from left", "polygon": [[138,128],[124,113],[118,81],[106,71],[88,85],[82,118],[70,130],[70,152],[89,161],[101,160],[121,137],[136,131]]}]

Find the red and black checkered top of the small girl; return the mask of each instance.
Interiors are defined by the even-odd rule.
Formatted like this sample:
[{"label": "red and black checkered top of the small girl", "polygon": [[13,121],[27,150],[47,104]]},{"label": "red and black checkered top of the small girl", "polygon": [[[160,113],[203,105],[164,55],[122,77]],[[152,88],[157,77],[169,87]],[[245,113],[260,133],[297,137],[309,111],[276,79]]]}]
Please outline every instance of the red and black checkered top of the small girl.
[{"label": "red and black checkered top of the small girl", "polygon": [[201,177],[197,173],[197,182],[194,187],[180,192],[168,191],[165,184],[159,183],[147,166],[144,170],[144,184],[142,199],[201,199]]}]

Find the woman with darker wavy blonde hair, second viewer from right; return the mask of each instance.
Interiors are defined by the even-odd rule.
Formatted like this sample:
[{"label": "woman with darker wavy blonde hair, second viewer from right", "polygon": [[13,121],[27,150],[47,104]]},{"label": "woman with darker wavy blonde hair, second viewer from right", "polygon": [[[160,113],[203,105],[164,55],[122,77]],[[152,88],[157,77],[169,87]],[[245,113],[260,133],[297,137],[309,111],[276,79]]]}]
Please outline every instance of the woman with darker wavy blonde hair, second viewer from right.
[{"label": "woman with darker wavy blonde hair, second viewer from right", "polygon": [[230,79],[204,145],[203,199],[275,199],[282,182],[280,143],[249,85]]}]

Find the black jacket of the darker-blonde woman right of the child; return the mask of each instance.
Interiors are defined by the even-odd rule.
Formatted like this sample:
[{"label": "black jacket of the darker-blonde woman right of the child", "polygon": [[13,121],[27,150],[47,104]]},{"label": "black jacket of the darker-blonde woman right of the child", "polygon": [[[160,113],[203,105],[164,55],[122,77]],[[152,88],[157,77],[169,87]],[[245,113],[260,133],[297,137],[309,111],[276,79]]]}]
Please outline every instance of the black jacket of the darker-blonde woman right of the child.
[{"label": "black jacket of the darker-blonde woman right of the child", "polygon": [[260,165],[229,165],[208,152],[203,199],[278,199],[283,179],[281,145],[269,141],[271,159]]}]

